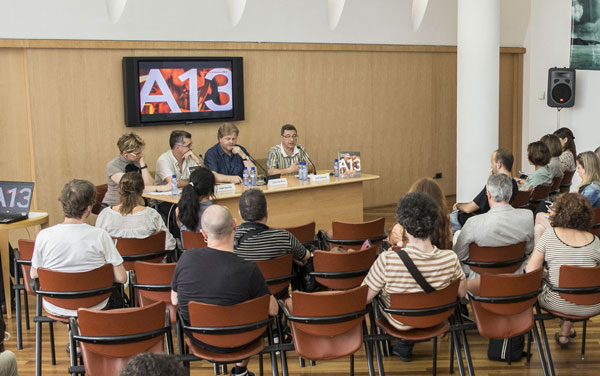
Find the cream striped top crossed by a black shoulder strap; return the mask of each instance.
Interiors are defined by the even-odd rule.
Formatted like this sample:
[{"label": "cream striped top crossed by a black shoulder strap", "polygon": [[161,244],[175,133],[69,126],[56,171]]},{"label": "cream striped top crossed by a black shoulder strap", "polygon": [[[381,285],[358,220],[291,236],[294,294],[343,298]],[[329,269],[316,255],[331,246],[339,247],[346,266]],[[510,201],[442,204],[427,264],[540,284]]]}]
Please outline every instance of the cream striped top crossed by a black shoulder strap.
[{"label": "cream striped top crossed by a black shoulder strap", "polygon": [[[422,252],[407,246],[404,248],[417,269],[427,282],[436,290],[447,287],[455,280],[465,279],[458,256],[452,250],[441,250],[434,247],[433,252]],[[383,303],[390,306],[390,294],[409,294],[422,292],[423,289],[412,277],[404,262],[394,251],[385,251],[379,255],[371,266],[369,274],[363,281],[373,291],[379,291]],[[411,329],[410,326],[393,319],[382,312],[388,321],[399,330]]]}]

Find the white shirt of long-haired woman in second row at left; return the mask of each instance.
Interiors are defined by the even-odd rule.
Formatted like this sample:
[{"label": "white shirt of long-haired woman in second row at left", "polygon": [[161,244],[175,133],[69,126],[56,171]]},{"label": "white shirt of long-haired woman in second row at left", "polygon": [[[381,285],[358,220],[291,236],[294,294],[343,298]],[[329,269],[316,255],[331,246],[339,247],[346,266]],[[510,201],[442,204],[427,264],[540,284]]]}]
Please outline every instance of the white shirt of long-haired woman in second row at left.
[{"label": "white shirt of long-haired woman in second row at left", "polygon": [[148,236],[164,231],[165,249],[175,249],[175,238],[167,229],[165,222],[158,212],[152,208],[145,208],[137,213],[122,215],[112,208],[100,212],[96,220],[96,227],[100,227],[110,236],[115,238],[145,239]]}]

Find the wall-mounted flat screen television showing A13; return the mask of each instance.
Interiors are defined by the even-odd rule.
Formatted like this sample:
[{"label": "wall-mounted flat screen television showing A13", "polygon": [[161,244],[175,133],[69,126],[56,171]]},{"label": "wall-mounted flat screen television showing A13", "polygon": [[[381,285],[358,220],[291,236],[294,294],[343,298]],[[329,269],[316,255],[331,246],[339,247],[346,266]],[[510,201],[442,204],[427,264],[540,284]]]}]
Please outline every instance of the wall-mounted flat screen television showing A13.
[{"label": "wall-mounted flat screen television showing A13", "polygon": [[244,120],[241,57],[124,57],[125,125]]}]

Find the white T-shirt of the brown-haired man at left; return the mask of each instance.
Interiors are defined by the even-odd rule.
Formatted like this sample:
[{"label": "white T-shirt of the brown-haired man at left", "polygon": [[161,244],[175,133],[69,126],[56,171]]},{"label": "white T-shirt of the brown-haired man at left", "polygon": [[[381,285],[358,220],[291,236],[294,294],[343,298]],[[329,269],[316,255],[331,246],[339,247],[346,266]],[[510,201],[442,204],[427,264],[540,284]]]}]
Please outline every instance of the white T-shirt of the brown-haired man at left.
[{"label": "white T-shirt of the brown-haired man at left", "polygon": [[[78,273],[97,269],[105,264],[119,266],[123,258],[108,233],[83,224],[58,224],[40,231],[35,239],[31,266],[59,272]],[[108,303],[89,307],[102,309]],[[46,311],[60,316],[77,316],[76,310],[64,309],[44,300]]]}]

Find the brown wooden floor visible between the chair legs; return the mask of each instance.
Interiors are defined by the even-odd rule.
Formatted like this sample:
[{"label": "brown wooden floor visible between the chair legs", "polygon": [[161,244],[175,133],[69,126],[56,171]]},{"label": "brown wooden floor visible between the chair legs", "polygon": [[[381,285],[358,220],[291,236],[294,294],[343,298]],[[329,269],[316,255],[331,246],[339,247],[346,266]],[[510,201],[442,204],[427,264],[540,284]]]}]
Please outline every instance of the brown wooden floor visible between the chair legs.
[{"label": "brown wooden floor visible between the chair legs", "polygon": [[[451,204],[450,204],[451,207]],[[390,228],[394,223],[394,206],[373,208],[365,210],[365,220],[374,219],[379,216],[386,217],[386,228]],[[30,312],[35,311],[35,303],[30,302]],[[33,325],[33,322],[32,322]],[[50,363],[50,347],[48,340],[48,325],[44,325],[43,332],[43,374],[44,375],[65,375],[69,366],[68,354],[65,351],[67,344],[67,328],[62,324],[55,324],[56,332],[56,353],[57,364],[55,366]],[[572,340],[571,346],[567,350],[561,350],[554,342],[554,332],[557,330],[557,322],[547,322],[548,336],[551,338],[550,347],[554,359],[554,366],[557,375],[578,375],[591,376],[600,375],[600,319],[592,320],[588,324],[588,333],[586,341],[586,357],[581,359],[581,324],[576,324],[577,337]],[[33,375],[35,370],[35,328],[32,326],[30,330],[24,329],[24,349],[16,350],[16,330],[15,319],[7,320],[7,330],[12,334],[12,338],[6,342],[6,348],[12,350],[17,355],[19,374]],[[507,365],[506,363],[492,362],[487,359],[487,344],[488,340],[478,335],[476,331],[468,333],[468,341],[471,347],[471,354],[474,361],[475,374],[483,376],[516,376],[516,375],[541,375],[541,367],[535,344],[532,347],[533,357],[530,364],[524,360]],[[413,361],[404,363],[396,357],[384,359],[385,371],[387,375],[430,375],[432,372],[432,343],[418,343],[415,346],[413,353]],[[349,361],[348,358],[320,361],[317,365],[311,367],[307,365],[300,368],[297,358],[294,353],[289,353],[288,363],[290,375],[348,375]],[[368,375],[366,358],[364,350],[357,353],[356,372],[358,376]],[[442,338],[439,341],[438,348],[438,374],[449,374],[449,343],[448,340]],[[257,358],[253,358],[250,362],[249,369],[253,372],[258,372]],[[265,358],[265,374],[271,373],[270,362],[268,357]],[[191,368],[192,375],[212,375],[213,367],[208,362],[195,362]],[[258,373],[257,373],[258,374]],[[455,371],[457,374],[457,371]]]}]

